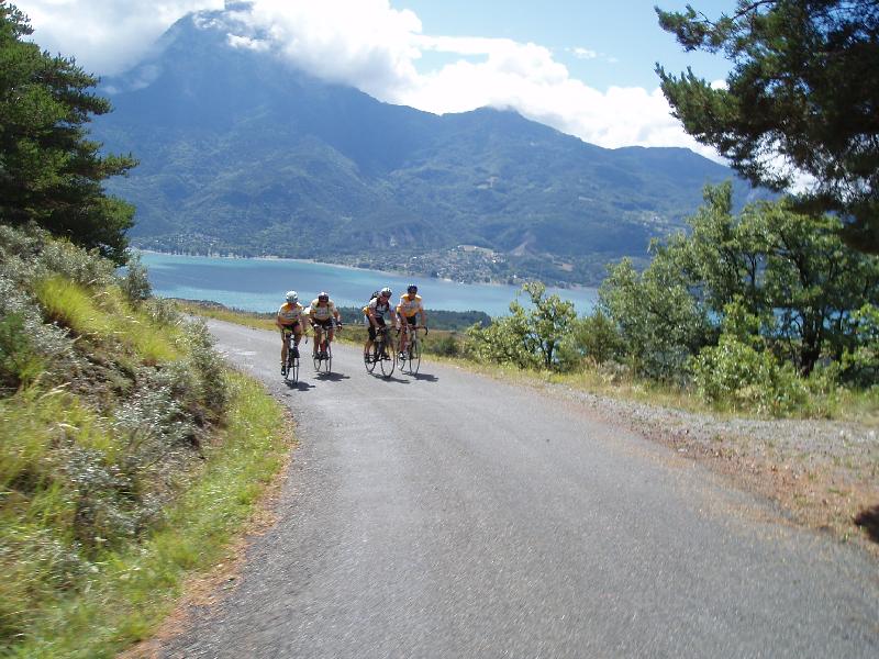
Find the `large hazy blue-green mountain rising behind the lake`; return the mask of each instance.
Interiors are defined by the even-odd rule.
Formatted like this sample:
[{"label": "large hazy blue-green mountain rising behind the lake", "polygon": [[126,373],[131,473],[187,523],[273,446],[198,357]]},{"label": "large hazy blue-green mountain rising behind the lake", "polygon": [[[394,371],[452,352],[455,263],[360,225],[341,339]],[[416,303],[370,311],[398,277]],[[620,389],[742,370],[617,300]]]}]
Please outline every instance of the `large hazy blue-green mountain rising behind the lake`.
[{"label": "large hazy blue-green mountain rising behind the lake", "polygon": [[589,283],[733,178],[687,149],[600,148],[510,111],[382,103],[232,47],[230,20],[190,14],[102,82],[114,112],[93,134],[141,161],[111,189],[137,206],[135,245]]}]

